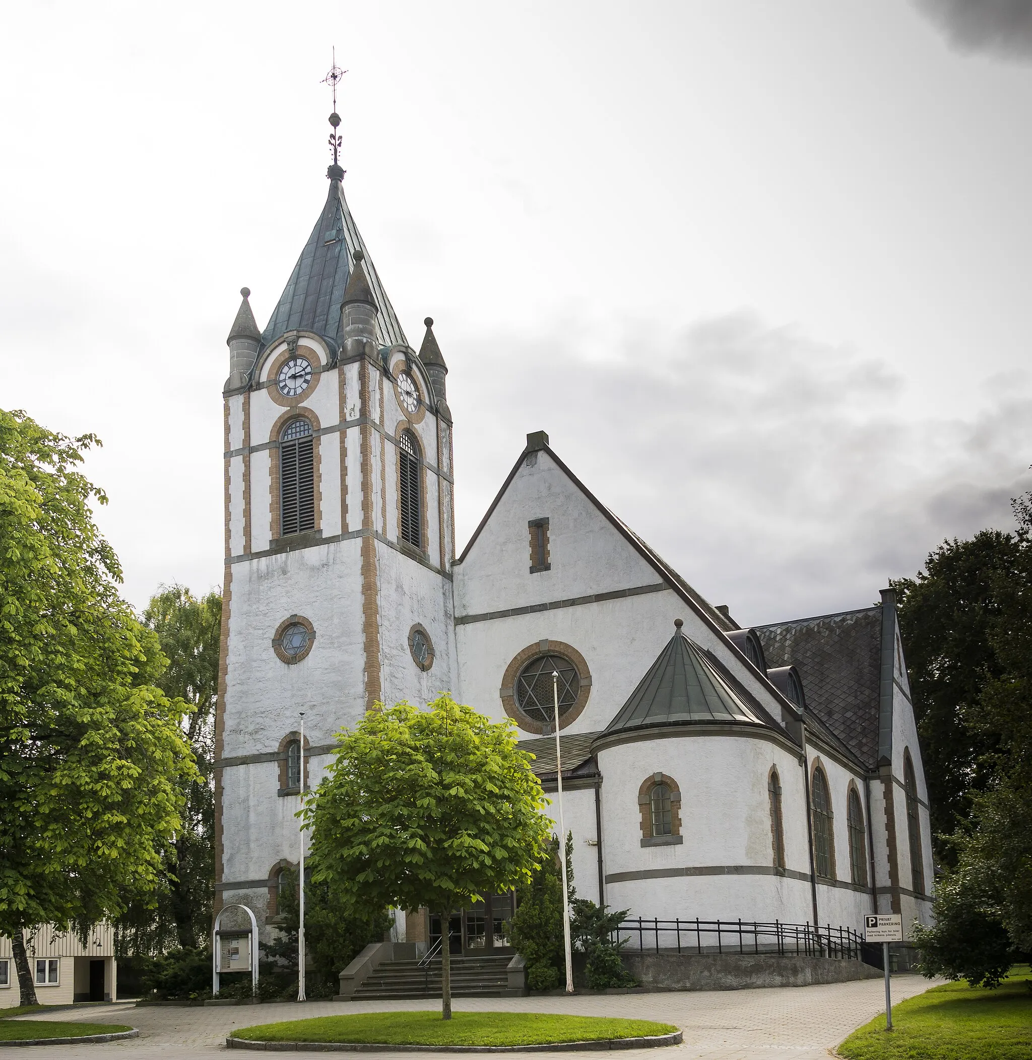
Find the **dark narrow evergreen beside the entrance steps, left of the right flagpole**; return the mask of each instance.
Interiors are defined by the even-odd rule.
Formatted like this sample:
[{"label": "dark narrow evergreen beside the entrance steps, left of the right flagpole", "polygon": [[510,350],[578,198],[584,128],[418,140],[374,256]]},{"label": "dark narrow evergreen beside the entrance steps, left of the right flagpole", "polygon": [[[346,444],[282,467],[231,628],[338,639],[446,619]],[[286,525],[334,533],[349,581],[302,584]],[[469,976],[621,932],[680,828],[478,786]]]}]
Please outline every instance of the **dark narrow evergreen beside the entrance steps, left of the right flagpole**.
[{"label": "dark narrow evergreen beside the entrance steps, left of the right flagpole", "polygon": [[[566,833],[566,901],[576,900],[573,835]],[[527,962],[531,990],[555,990],[565,974],[562,932],[562,866],[559,838],[548,837],[544,856],[530,879],[517,891],[517,908],[507,925],[509,941]]]}]

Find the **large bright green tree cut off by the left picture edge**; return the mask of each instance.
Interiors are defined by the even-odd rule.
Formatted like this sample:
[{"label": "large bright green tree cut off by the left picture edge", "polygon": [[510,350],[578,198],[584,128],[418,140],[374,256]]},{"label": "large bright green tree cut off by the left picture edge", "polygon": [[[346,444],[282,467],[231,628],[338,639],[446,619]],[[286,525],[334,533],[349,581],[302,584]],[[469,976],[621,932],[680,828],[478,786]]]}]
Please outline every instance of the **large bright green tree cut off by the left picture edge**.
[{"label": "large bright green tree cut off by the left picture edge", "polygon": [[157,637],[118,594],[106,497],[69,439],[0,412],[0,934],[35,1003],[23,932],[118,916],[154,890],[195,776]]}]

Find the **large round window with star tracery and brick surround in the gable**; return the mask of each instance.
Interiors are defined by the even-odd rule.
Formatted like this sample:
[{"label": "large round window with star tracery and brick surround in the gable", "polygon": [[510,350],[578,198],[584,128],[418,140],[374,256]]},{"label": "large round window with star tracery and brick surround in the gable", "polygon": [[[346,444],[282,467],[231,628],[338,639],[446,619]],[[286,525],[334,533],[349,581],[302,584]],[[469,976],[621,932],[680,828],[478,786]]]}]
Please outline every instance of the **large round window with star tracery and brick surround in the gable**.
[{"label": "large round window with star tracery and brick surround in the gable", "polygon": [[570,644],[541,640],[524,649],[506,669],[501,689],[506,713],[529,732],[552,731],[559,701],[559,727],[584,709],[591,673],[583,655]]}]

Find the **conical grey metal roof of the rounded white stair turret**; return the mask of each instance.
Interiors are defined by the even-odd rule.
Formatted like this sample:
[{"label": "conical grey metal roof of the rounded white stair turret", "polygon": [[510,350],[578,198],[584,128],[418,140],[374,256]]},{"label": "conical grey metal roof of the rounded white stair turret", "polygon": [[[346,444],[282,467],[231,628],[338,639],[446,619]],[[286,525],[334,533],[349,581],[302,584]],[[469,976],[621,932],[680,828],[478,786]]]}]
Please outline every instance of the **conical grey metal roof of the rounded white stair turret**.
[{"label": "conical grey metal roof of the rounded white stair turret", "polygon": [[681,619],[675,625],[669,643],[606,732],[690,722],[765,725],[703,649],[681,632]]}]

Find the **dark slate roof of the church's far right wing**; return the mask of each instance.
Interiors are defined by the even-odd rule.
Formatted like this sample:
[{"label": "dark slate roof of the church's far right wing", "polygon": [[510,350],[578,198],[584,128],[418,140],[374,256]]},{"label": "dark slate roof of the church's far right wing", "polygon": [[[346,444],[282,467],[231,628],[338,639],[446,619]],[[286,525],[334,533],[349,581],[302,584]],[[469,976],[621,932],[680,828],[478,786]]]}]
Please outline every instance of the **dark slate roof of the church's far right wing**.
[{"label": "dark slate roof of the church's far right wing", "polygon": [[807,707],[860,761],[878,758],[881,608],[756,626],[770,667],[794,666]]}]

